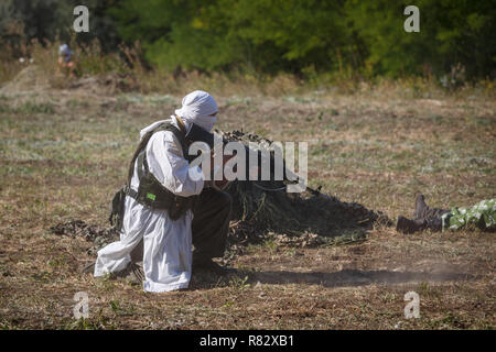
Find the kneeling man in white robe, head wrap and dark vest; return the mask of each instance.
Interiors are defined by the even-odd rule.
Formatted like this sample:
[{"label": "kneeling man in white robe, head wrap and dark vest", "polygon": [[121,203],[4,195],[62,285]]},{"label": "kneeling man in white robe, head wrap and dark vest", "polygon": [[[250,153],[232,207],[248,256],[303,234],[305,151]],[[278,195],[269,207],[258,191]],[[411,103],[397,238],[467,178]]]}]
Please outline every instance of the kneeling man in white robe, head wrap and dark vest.
[{"label": "kneeling man in white robe, head wrap and dark vest", "polygon": [[231,198],[190,165],[187,145],[194,141],[185,138],[193,123],[211,131],[217,111],[214,98],[196,90],[169,120],[141,131],[123,187],[120,241],[98,252],[95,276],[142,261],[143,289],[161,293],[186,288],[192,267],[223,273],[212,258],[224,255]]}]

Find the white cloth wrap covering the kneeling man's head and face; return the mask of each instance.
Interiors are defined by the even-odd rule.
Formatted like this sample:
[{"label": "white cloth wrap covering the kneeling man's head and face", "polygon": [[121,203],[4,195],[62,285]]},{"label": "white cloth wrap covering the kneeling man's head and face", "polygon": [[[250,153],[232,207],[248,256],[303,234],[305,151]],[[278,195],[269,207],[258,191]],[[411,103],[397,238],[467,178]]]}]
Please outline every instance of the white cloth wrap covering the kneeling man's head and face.
[{"label": "white cloth wrap covering the kneeling man's head and face", "polygon": [[183,98],[183,107],[175,110],[175,114],[182,118],[186,125],[196,123],[201,128],[211,131],[217,118],[218,107],[214,97],[203,90],[195,90]]}]

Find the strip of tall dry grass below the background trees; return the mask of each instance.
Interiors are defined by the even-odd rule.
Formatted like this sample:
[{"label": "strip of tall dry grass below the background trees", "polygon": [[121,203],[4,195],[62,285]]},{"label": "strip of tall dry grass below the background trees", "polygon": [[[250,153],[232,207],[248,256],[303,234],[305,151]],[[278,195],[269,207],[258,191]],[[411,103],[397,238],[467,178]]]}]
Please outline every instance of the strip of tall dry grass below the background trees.
[{"label": "strip of tall dry grass below the background trees", "polygon": [[[20,30],[20,29],[18,29]],[[74,34],[68,44],[77,63],[77,78],[55,75],[57,72],[57,53],[60,40],[43,43],[33,40],[20,42],[15,47],[1,43],[0,47],[0,85],[12,80],[15,75],[30,65],[36,65],[55,88],[74,88],[80,78],[99,77],[107,80],[109,76],[118,77],[121,90],[140,94],[182,95],[198,87],[217,96],[302,96],[312,92],[333,95],[366,95],[376,97],[433,98],[467,95],[495,98],[495,82],[483,79],[476,82],[465,81],[456,91],[442,87],[435,77],[408,77],[402,79],[359,78],[357,73],[308,73],[300,76],[283,74],[267,75],[248,69],[234,69],[229,73],[174,72],[150,67],[143,62],[143,52],[139,42],[130,46],[120,45],[116,53],[104,53],[100,43],[95,40],[89,44],[78,44]],[[21,63],[20,59],[23,62]],[[30,64],[32,62],[32,64]]]}]

